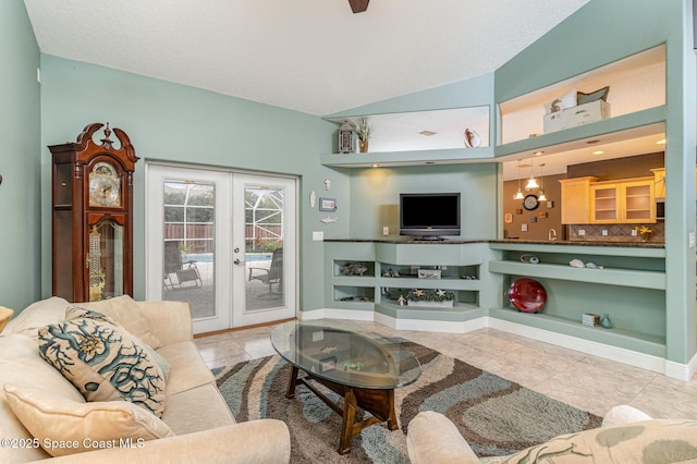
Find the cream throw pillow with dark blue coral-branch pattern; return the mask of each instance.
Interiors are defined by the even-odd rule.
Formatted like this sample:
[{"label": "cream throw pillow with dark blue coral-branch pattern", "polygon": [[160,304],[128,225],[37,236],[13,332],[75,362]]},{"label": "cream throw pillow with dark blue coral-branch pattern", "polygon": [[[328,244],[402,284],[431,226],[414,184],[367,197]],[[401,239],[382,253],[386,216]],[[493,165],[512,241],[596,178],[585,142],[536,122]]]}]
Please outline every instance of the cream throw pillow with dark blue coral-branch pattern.
[{"label": "cream throw pillow with dark blue coral-branch pattern", "polygon": [[87,401],[126,400],[158,417],[164,411],[164,373],[121,327],[89,318],[53,323],[39,329],[39,354]]}]

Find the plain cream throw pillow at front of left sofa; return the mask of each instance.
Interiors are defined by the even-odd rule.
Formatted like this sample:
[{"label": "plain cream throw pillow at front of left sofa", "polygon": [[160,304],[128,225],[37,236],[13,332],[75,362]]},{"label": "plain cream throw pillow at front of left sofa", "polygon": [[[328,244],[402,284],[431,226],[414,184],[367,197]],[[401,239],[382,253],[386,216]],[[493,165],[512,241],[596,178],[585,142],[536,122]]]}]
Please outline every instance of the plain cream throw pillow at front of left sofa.
[{"label": "plain cream throw pillow at front of left sofa", "polygon": [[174,436],[162,420],[125,401],[78,403],[58,393],[14,384],[5,384],[4,393],[14,415],[52,456],[135,447]]}]

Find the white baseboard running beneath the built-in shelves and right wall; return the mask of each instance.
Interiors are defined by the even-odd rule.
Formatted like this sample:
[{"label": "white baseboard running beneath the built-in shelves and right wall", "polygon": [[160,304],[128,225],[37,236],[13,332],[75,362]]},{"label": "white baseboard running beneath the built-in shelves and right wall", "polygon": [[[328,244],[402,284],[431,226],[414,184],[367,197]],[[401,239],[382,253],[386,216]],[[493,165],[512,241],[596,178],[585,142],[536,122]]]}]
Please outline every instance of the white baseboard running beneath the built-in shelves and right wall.
[{"label": "white baseboard running beneath the built-in shelves and right wall", "polygon": [[617,346],[592,342],[577,337],[565,335],[549,330],[537,329],[522,323],[501,320],[485,316],[463,322],[395,319],[380,313],[356,312],[351,309],[320,308],[302,312],[301,319],[311,320],[321,318],[375,321],[395,330],[414,330],[426,332],[467,333],[473,330],[490,327],[509,333],[550,343],[568,350],[578,351],[604,359],[614,361],[641,369],[659,373],[678,380],[688,381],[697,371],[697,354],[687,364],[680,364],[662,357],[638,353]]}]

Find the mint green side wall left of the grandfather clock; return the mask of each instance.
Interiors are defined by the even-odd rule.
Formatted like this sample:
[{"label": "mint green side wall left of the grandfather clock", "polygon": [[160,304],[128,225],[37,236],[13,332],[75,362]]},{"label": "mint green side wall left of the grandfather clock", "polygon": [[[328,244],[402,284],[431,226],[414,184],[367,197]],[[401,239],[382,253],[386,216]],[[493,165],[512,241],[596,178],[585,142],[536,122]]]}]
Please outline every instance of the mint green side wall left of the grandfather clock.
[{"label": "mint green side wall left of the grandfather clock", "polygon": [[24,2],[0,2],[0,305],[40,295],[39,49]]}]

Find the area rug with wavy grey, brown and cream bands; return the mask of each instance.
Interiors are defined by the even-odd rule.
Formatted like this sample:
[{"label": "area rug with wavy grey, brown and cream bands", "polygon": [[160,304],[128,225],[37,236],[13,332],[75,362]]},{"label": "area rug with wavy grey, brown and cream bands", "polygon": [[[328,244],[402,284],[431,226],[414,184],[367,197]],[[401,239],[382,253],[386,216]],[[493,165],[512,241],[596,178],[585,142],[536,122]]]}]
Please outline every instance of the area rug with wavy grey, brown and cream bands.
[{"label": "area rug with wavy grey, brown and cream bands", "polygon": [[[291,430],[293,463],[408,463],[406,432],[420,411],[448,416],[479,456],[505,455],[562,434],[599,427],[601,417],[519,384],[407,342],[421,364],[420,378],[395,390],[400,429],[379,425],[353,438],[351,453],[340,455],[341,417],[299,386],[285,398],[290,365],[267,356],[213,370],[218,388],[239,422],[271,417]],[[341,399],[328,393],[338,402]]]}]

